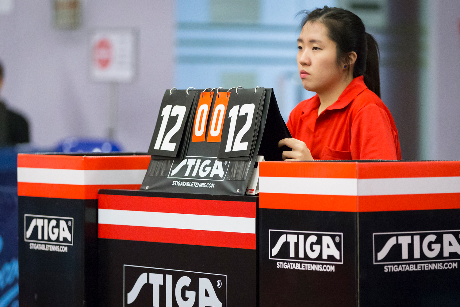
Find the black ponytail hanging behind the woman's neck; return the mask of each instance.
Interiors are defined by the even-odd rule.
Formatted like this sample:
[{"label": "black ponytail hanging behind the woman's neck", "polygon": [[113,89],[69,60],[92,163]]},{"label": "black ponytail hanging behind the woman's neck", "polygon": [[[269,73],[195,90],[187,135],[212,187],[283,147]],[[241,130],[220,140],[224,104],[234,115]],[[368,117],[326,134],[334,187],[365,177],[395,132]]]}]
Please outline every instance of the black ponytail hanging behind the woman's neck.
[{"label": "black ponytail hanging behind the woman's neck", "polygon": [[374,36],[366,33],[368,44],[368,57],[366,59],[366,71],[364,71],[364,83],[372,92],[380,97],[380,73],[379,73],[379,45]]}]

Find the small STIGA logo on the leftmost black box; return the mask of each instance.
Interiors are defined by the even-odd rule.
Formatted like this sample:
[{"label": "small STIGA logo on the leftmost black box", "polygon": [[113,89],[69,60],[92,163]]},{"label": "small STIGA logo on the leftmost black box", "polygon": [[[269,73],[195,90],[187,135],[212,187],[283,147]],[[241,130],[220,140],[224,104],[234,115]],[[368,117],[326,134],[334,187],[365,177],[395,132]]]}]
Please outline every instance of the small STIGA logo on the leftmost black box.
[{"label": "small STIGA logo on the leftmost black box", "polygon": [[24,241],[74,245],[74,218],[24,214]]}]

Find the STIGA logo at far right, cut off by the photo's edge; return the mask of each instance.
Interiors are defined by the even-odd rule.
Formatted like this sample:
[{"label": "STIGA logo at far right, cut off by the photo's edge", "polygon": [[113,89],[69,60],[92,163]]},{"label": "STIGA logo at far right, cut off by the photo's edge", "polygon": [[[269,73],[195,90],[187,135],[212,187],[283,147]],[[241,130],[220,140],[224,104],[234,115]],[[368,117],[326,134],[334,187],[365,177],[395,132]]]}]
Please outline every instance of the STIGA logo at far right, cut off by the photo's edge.
[{"label": "STIGA logo at far right, cut off by the photo's edge", "polygon": [[460,230],[372,234],[374,264],[460,260]]}]

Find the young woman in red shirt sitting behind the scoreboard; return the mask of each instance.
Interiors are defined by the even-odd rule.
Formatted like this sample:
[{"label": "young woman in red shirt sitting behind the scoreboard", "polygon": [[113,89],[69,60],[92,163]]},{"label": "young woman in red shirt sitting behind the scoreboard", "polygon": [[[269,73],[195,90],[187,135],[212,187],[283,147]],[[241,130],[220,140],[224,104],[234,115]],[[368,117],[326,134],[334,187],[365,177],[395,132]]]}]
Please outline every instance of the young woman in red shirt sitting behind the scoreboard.
[{"label": "young woman in red shirt sitting behind the scoreboard", "polygon": [[305,13],[297,40],[304,88],[316,92],[292,110],[283,159],[401,159],[398,132],[380,99],[377,42],[352,12],[324,6]]}]

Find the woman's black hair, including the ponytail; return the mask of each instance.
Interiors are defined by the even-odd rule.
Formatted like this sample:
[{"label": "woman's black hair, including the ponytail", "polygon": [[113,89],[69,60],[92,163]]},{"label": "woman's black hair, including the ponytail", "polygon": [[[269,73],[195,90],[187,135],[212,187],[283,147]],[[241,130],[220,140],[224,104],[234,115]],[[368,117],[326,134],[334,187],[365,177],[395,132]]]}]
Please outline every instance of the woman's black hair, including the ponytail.
[{"label": "woman's black hair, including the ponytail", "polygon": [[337,62],[346,64],[350,72],[349,52],[356,52],[353,78],[364,76],[366,86],[380,97],[379,46],[374,37],[366,33],[361,18],[339,7],[324,6],[311,12],[300,11],[304,16],[301,28],[307,22],[321,22],[328,29],[329,38],[337,45]]}]

